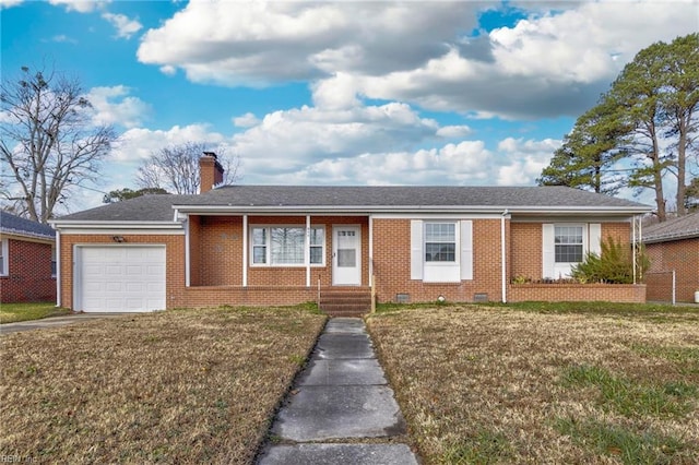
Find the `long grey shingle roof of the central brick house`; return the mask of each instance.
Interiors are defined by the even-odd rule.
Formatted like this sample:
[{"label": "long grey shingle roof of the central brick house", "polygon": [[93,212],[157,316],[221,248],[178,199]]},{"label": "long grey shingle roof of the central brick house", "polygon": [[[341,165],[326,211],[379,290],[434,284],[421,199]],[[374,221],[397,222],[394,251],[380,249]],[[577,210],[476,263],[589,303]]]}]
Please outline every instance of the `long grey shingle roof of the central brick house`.
[{"label": "long grey shingle roof of the central brick house", "polygon": [[645,213],[651,208],[565,187],[225,186],[199,195],[145,195],[56,220],[171,222],[173,210],[217,212],[487,211]]}]

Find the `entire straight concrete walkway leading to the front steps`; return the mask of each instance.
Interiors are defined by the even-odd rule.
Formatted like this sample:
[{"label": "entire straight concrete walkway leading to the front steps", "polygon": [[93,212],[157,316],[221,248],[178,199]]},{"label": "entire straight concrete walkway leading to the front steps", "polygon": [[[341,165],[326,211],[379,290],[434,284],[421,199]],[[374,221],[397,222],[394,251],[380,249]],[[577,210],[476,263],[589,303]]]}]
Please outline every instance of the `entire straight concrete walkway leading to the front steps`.
[{"label": "entire straight concrete walkway leading to the front steps", "polygon": [[271,432],[279,443],[260,465],[418,463],[406,444],[388,441],[405,434],[405,422],[358,318],[328,322]]}]

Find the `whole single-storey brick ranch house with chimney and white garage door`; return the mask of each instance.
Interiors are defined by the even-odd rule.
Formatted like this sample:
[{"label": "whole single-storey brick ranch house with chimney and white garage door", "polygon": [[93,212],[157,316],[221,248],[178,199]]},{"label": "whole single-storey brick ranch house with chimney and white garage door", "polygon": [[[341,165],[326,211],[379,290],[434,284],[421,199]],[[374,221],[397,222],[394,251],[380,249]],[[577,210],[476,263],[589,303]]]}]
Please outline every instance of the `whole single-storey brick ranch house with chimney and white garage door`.
[{"label": "whole single-storey brick ranch house with chimney and white garage door", "polygon": [[[631,242],[649,207],[561,187],[225,186],[202,157],[197,195],[147,195],[54,222],[59,305],[146,311],[291,305],[343,293],[391,301],[644,301],[639,286],[557,278],[600,240]],[[366,300],[364,300],[366,302]],[[369,300],[370,301],[370,300]]]}]

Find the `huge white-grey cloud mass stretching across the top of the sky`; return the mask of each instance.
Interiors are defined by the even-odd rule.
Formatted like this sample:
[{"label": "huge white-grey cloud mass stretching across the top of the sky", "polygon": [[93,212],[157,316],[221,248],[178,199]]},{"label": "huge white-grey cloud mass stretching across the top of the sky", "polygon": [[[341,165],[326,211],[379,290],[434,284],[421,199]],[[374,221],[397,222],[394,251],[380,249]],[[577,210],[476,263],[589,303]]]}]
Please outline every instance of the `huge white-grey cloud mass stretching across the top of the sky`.
[{"label": "huge white-grey cloud mass stretching across the top of the sky", "polygon": [[138,57],[196,82],[310,81],[328,109],[369,97],[534,119],[579,115],[640,49],[697,29],[696,1],[517,7],[529,17],[474,36],[493,3],[190,2]]}]

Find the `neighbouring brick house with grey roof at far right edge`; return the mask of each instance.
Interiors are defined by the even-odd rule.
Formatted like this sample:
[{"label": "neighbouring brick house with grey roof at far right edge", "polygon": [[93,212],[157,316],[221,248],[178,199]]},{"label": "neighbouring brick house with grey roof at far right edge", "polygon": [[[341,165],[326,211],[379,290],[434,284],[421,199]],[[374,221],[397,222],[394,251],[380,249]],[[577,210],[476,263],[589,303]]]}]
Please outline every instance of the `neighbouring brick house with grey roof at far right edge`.
[{"label": "neighbouring brick house with grey roof at far right edge", "polygon": [[694,302],[699,290],[699,212],[648,226],[642,236],[651,261],[648,299],[672,298],[675,271],[675,299]]}]

